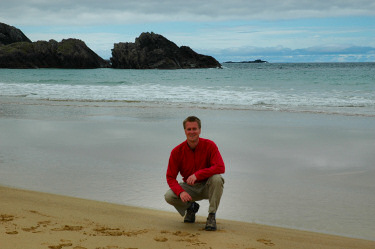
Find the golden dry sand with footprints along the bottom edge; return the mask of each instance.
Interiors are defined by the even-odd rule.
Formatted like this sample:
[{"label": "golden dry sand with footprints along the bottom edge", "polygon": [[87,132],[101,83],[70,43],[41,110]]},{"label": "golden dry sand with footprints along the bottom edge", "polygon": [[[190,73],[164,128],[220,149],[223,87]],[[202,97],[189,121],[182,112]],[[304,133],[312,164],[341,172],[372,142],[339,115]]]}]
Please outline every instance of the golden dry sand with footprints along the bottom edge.
[{"label": "golden dry sand with footprints along the bottom edge", "polygon": [[375,248],[375,241],[205,217],[185,224],[177,213],[0,187],[1,249]]}]

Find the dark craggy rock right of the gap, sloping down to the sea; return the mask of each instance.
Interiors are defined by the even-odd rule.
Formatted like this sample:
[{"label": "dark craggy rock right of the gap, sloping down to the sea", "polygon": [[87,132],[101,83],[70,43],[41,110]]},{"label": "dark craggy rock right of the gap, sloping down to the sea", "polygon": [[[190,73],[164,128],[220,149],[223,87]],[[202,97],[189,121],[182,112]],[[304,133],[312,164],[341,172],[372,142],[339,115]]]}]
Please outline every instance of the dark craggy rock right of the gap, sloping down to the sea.
[{"label": "dark craggy rock right of the gap, sloping down to the sea", "polygon": [[111,63],[113,68],[123,69],[221,67],[213,57],[198,54],[186,46],[178,47],[165,37],[154,33],[142,33],[134,43],[115,43]]}]

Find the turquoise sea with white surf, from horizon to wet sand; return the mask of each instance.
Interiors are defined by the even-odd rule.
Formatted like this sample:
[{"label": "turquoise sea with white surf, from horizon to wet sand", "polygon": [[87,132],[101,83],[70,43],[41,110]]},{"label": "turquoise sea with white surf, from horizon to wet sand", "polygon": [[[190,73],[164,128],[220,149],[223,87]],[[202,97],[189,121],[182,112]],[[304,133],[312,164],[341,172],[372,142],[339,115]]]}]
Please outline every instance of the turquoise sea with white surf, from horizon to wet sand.
[{"label": "turquoise sea with white surf, from horizon to wet sand", "polygon": [[375,63],[224,64],[196,70],[0,69],[0,96],[375,115]]}]

